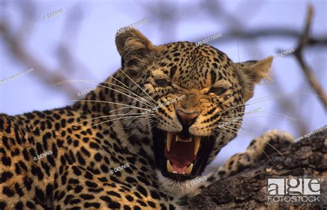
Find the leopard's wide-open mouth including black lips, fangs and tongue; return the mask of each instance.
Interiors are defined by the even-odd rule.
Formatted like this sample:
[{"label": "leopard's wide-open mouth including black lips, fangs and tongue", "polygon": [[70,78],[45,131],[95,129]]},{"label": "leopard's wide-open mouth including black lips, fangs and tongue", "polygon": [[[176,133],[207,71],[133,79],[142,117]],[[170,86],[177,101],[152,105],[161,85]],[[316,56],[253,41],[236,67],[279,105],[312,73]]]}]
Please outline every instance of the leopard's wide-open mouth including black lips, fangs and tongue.
[{"label": "leopard's wide-open mouth including black lips, fangs and tongue", "polygon": [[214,136],[191,136],[156,128],[152,134],[157,167],[163,176],[184,181],[201,175],[208,164]]}]

